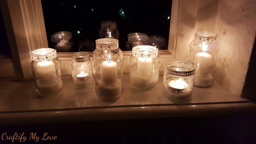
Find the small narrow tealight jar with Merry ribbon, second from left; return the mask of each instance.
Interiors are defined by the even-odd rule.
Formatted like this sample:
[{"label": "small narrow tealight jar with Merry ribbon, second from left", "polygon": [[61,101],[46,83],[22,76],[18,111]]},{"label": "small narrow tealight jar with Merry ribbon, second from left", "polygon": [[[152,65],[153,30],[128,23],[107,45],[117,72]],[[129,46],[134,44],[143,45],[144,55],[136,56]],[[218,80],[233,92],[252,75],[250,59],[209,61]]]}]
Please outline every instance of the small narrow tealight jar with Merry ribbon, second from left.
[{"label": "small narrow tealight jar with Merry ribbon, second from left", "polygon": [[73,83],[78,88],[89,87],[93,83],[92,63],[88,52],[76,52],[72,54]]}]

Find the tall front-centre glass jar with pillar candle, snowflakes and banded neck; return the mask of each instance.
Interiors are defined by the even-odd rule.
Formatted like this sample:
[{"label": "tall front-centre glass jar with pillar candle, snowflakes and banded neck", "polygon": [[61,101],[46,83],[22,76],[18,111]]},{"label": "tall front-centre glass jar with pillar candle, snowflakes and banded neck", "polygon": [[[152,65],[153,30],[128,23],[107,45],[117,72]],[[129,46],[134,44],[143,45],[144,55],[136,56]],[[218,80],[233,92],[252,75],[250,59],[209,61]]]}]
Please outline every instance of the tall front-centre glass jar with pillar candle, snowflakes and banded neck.
[{"label": "tall front-centre glass jar with pillar candle, snowflakes and banded neck", "polygon": [[95,70],[95,92],[103,100],[113,100],[123,93],[123,52],[118,40],[102,38],[96,40],[93,51]]}]

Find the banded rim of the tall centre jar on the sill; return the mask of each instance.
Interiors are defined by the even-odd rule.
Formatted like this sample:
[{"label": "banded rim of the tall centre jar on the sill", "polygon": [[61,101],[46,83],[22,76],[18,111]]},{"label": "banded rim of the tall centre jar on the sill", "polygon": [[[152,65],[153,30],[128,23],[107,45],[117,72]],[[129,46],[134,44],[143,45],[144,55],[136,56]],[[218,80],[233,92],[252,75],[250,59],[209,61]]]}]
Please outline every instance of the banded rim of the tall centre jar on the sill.
[{"label": "banded rim of the tall centre jar on the sill", "polygon": [[114,38],[101,38],[96,41],[96,48],[99,50],[114,50],[119,47],[118,40]]}]

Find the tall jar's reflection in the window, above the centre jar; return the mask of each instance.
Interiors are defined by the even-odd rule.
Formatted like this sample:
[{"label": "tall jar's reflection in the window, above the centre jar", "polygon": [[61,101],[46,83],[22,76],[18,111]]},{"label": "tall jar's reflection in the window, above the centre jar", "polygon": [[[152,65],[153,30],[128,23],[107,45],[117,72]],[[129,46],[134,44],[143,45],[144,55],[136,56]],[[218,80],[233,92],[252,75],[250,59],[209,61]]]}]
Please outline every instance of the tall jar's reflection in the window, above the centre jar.
[{"label": "tall jar's reflection in the window, above the centre jar", "polygon": [[101,21],[99,38],[119,38],[119,31],[115,21]]}]

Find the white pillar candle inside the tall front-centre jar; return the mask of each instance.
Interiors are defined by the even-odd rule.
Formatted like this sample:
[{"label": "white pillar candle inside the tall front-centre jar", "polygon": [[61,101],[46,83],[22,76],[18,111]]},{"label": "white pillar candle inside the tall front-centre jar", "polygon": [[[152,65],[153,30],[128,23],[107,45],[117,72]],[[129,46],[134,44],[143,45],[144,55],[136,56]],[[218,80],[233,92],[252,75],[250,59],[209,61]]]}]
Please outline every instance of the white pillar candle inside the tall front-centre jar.
[{"label": "white pillar candle inside the tall front-centre jar", "polygon": [[101,81],[107,85],[114,84],[117,81],[117,62],[103,61],[101,63]]}]

